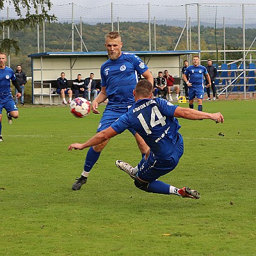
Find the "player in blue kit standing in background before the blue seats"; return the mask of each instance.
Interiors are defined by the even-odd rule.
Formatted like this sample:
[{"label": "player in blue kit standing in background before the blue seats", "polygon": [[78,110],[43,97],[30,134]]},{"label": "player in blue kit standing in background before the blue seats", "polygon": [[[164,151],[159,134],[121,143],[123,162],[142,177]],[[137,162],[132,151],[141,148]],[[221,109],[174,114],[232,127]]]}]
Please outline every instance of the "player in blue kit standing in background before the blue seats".
[{"label": "player in blue kit standing in background before the blue seats", "polygon": [[198,56],[193,57],[193,65],[189,66],[182,75],[184,83],[188,84],[189,108],[194,108],[194,99],[196,97],[198,110],[203,111],[204,98],[204,76],[211,86],[211,78],[204,66],[199,65]]}]

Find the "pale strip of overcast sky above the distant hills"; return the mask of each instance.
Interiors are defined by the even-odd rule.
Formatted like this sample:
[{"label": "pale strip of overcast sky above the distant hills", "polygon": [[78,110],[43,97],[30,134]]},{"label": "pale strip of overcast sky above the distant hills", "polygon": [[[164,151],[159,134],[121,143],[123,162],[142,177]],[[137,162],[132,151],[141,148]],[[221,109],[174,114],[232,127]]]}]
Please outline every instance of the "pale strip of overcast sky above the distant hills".
[{"label": "pale strip of overcast sky above the distant hills", "polygon": [[167,5],[167,6],[179,6],[182,4],[188,4],[188,3],[209,3],[209,4],[255,4],[255,0],[230,0],[227,3],[223,0],[197,0],[197,1],[188,1],[188,0],[179,0],[179,1],[170,1],[170,0],[98,0],[98,1],[84,1],[84,0],[51,0],[52,4],[59,5],[59,4],[69,4],[69,3],[75,3],[76,5],[80,5],[83,7],[95,7],[95,6],[104,6],[108,4],[155,4],[155,5]]}]

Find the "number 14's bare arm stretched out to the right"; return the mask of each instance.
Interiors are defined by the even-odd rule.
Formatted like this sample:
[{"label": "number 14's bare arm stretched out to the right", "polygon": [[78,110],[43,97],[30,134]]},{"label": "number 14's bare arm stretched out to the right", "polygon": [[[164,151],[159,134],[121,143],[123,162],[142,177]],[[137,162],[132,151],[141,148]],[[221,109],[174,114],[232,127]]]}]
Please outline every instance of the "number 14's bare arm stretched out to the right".
[{"label": "number 14's bare arm stretched out to the right", "polygon": [[181,108],[178,107],[174,111],[175,117],[180,118],[186,118],[190,120],[200,120],[200,119],[211,119],[216,121],[216,123],[223,123],[224,117],[221,115],[221,113],[207,113],[203,111],[198,111],[196,109],[190,109],[190,108]]}]

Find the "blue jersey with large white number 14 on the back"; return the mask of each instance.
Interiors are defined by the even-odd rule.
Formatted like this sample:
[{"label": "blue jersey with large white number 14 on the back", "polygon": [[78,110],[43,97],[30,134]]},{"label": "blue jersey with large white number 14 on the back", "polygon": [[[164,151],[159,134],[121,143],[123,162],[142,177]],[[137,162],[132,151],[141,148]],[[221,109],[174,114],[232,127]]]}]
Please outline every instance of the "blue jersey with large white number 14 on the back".
[{"label": "blue jersey with large white number 14 on the back", "polygon": [[170,159],[180,129],[177,118],[173,116],[177,107],[161,98],[138,100],[111,127],[118,133],[134,129],[156,159]]}]

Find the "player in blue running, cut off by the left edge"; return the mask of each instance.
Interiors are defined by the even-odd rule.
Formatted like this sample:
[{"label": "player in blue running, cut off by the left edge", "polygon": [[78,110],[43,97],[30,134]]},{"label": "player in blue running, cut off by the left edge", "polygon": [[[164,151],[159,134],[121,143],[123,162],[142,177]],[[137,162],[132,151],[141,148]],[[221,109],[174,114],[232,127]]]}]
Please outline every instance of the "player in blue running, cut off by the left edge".
[{"label": "player in blue running, cut off by the left edge", "polygon": [[12,124],[12,118],[19,117],[19,111],[15,102],[12,98],[12,92],[10,87],[10,80],[12,80],[12,84],[17,89],[17,93],[15,95],[16,99],[19,99],[21,96],[21,88],[19,82],[17,81],[15,74],[12,68],[6,67],[6,53],[0,52],[0,141],[3,141],[2,136],[2,111],[3,108],[6,110],[8,123]]}]

